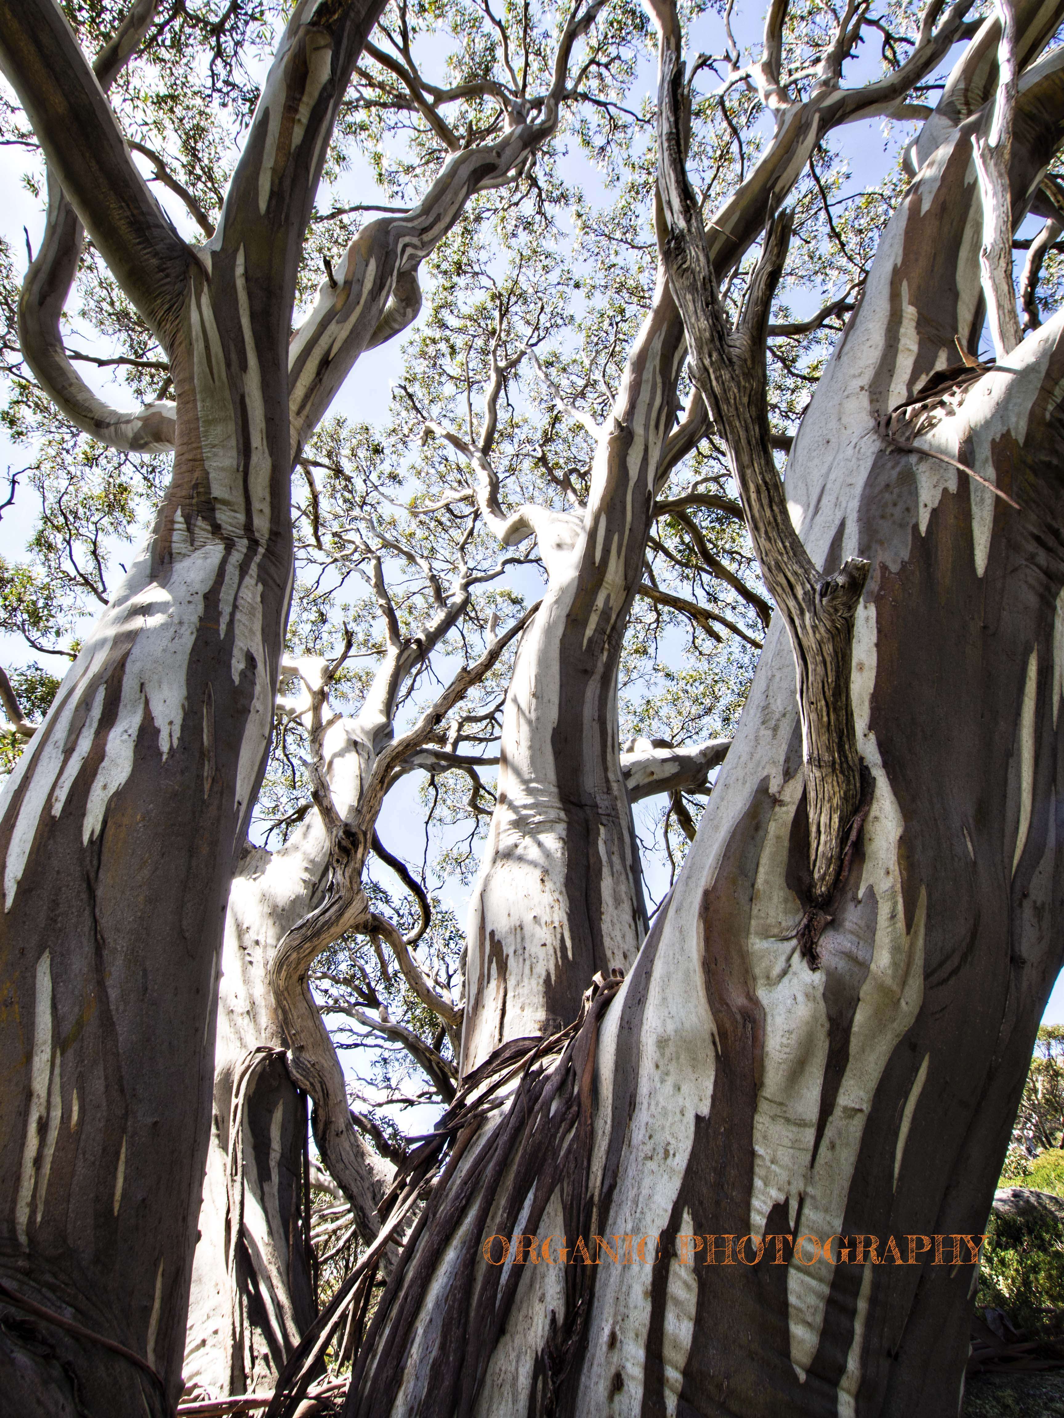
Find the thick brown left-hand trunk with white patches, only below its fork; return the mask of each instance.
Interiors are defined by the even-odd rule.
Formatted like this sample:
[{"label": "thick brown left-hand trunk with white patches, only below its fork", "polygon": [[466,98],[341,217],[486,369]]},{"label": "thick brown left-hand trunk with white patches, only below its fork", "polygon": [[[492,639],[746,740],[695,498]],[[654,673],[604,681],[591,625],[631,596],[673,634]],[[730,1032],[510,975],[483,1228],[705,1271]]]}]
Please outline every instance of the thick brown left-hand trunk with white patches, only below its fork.
[{"label": "thick brown left-hand trunk with white patches, only below its fork", "polygon": [[[7,990],[21,1021],[4,1048],[24,1081],[4,1090],[7,1265],[26,1286],[28,1246],[40,1303],[71,1306],[89,1329],[112,1333],[126,1316],[122,1341],[170,1381],[207,1139],[220,927],[268,743],[291,581],[287,431],[278,475],[255,479],[250,506],[244,476],[268,459],[268,432],[253,415],[238,450],[235,372],[201,277],[186,322],[194,353],[179,383],[174,495],[11,776],[0,825]],[[237,350],[254,366],[240,336]],[[258,380],[241,372],[237,387],[241,406],[268,407]],[[233,462],[213,455],[227,445]],[[153,1001],[166,1001],[167,1027]],[[84,1279],[68,1269],[75,1256]],[[101,1314],[118,1296],[118,1314]],[[91,1358],[104,1392],[139,1387],[128,1364],[116,1378]]]}]

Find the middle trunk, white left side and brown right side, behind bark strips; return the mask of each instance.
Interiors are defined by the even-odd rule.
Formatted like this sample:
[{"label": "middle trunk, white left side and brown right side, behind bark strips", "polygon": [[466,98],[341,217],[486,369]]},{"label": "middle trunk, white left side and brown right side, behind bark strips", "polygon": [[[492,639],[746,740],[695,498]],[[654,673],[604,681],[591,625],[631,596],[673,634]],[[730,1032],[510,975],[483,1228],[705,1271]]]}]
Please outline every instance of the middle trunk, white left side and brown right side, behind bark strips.
[{"label": "middle trunk, white left side and brown right side, behind bark strips", "polygon": [[677,411],[682,323],[664,277],[600,430],[587,509],[541,513],[549,587],[518,651],[498,803],[470,906],[462,1072],[576,1017],[647,929],[620,766],[617,666]]}]

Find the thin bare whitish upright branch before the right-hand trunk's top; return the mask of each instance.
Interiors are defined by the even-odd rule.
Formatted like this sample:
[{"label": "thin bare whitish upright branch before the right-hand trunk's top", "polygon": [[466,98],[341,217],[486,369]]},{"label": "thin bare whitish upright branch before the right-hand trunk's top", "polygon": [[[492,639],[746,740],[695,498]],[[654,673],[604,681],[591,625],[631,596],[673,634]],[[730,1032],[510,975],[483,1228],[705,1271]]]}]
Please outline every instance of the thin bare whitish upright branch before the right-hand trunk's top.
[{"label": "thin bare whitish upright branch before the right-hand trunk's top", "polygon": [[990,336],[999,360],[1012,354],[1023,339],[1016,313],[1013,285],[1013,214],[1009,189],[1009,160],[1013,149],[1016,106],[1016,11],[1013,0],[996,0],[1002,24],[997,45],[997,96],[990,132],[972,135],[979,194],[983,200],[983,241],[979,268],[990,320]]}]

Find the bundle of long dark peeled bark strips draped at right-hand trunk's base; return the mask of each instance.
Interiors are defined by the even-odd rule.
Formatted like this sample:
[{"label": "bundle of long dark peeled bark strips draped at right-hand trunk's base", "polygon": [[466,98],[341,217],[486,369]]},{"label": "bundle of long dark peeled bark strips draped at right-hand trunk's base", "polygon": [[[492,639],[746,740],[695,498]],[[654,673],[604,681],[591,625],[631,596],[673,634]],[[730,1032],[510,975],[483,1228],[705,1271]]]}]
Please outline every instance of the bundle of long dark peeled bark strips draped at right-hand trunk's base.
[{"label": "bundle of long dark peeled bark strips draped at right-hand trunk's base", "polygon": [[[501,1045],[465,1078],[436,1132],[396,1177],[382,1204],[389,1215],[382,1238],[397,1229],[421,1197],[427,1194],[428,1200],[365,1339],[355,1344],[345,1407],[349,1418],[377,1418],[392,1411],[427,1286],[445,1254],[441,1343],[423,1418],[474,1411],[488,1361],[506,1327],[522,1269],[478,1265],[488,1236],[511,1236],[518,1224],[525,1234],[535,1234],[555,1193],[560,1195],[565,1234],[589,1234],[594,1059],[603,1015],[620,984],[619,976],[599,977],[567,1028],[549,1038]],[[369,1263],[367,1254],[304,1337],[281,1375],[267,1418],[294,1414],[314,1363],[350,1307],[362,1303]],[[563,1269],[565,1309],[560,1319],[552,1314],[548,1341],[535,1360],[531,1411],[536,1414],[555,1412],[590,1309],[594,1268]],[[462,1343],[454,1341],[458,1334]]]}]

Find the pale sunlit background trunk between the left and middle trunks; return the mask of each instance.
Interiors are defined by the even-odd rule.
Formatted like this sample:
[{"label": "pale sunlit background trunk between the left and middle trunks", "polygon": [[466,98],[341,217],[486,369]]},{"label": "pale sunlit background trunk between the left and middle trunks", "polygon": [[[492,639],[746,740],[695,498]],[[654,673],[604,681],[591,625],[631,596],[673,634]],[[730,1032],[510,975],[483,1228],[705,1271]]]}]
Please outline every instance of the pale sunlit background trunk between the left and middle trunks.
[{"label": "pale sunlit background trunk between the left and middle trunks", "polygon": [[[382,678],[392,675],[386,669]],[[373,759],[375,726],[336,718],[325,732],[326,773],[343,815],[358,808]],[[295,1126],[297,1117],[305,1117],[305,1105],[285,1064],[289,1041],[270,968],[285,934],[319,905],[328,875],[329,838],[311,808],[278,851],[245,848],[230,888],[214,1116],[184,1357],[189,1397],[272,1390],[314,1317],[304,1232],[304,1136]],[[318,1068],[335,1079],[333,1092],[339,1089],[346,1112],[343,1071],[328,1037],[323,1055]],[[243,1146],[233,1136],[237,1124],[244,1130]],[[370,1241],[379,1229],[375,1208],[387,1185],[387,1164],[372,1157],[349,1113],[345,1117],[315,1103],[314,1130],[359,1234]]]}]

